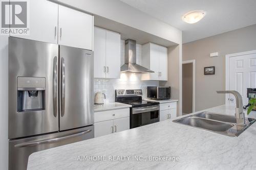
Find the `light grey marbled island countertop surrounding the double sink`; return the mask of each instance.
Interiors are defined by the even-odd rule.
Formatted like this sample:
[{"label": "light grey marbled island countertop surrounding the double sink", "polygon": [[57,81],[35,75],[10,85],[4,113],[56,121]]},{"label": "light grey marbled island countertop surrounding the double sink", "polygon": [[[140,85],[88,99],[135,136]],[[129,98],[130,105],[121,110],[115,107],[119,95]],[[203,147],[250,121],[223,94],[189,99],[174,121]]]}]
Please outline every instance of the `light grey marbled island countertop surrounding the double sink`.
[{"label": "light grey marbled island countertop surrounding the double sink", "polygon": [[[205,111],[233,115],[234,107]],[[249,117],[256,118],[256,113]],[[256,123],[239,137],[230,137],[172,120],[33,153],[28,169],[256,169]],[[86,156],[106,160],[89,161]],[[114,161],[113,156],[131,157]],[[132,160],[133,156],[142,160]],[[150,156],[177,156],[179,161],[150,161]]]}]

